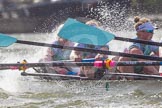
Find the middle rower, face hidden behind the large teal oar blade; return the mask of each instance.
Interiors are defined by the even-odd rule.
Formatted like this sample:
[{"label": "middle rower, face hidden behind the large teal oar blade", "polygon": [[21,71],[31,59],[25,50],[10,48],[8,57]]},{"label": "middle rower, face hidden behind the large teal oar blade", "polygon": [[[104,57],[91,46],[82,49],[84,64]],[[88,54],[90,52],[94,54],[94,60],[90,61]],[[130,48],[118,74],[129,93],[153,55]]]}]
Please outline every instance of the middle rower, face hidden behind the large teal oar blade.
[{"label": "middle rower, face hidden behind the large teal oar blade", "polygon": [[[90,20],[86,22],[87,25],[92,27],[99,27],[100,23],[96,20]],[[97,46],[97,45],[90,45],[90,44],[82,44],[82,43],[76,43],[74,45],[75,47],[81,47],[81,48],[90,48],[90,49],[96,49],[96,50],[109,50],[108,45],[104,46]],[[70,59],[74,61],[81,61],[82,59],[88,59],[88,58],[95,58],[96,60],[105,60],[108,58],[108,55],[103,54],[96,54],[96,53],[90,53],[90,52],[81,52],[81,51],[75,51],[73,50],[70,54]],[[88,78],[95,78],[95,77],[102,77],[105,70],[100,71],[100,69],[96,69],[95,67],[90,66],[82,66],[80,68],[80,76],[86,76]],[[98,75],[97,75],[98,74]],[[99,76],[99,74],[101,74]]]}]

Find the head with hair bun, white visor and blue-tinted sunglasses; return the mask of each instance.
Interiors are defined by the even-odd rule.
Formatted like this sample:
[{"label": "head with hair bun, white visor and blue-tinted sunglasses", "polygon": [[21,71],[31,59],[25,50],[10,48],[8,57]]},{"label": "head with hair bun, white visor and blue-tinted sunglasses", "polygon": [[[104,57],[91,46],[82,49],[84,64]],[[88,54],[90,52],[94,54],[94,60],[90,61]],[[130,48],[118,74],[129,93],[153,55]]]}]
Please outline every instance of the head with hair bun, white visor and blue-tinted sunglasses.
[{"label": "head with hair bun, white visor and blue-tinted sunglasses", "polygon": [[154,33],[154,26],[148,18],[140,18],[136,16],[134,18],[135,29],[137,31],[137,36],[140,39],[151,40]]}]

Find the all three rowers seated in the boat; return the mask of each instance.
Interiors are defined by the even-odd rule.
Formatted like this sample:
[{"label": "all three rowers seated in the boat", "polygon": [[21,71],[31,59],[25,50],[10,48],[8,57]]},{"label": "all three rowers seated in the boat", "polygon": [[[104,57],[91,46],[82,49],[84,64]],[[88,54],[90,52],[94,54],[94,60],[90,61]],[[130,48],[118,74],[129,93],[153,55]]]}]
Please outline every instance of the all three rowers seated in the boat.
[{"label": "all three rowers seated in the boat", "polygon": [[[135,17],[135,29],[136,29],[136,39],[142,39],[147,41],[152,41],[154,26],[151,24],[150,20],[147,18]],[[92,27],[99,27],[99,23],[95,20],[90,20],[86,24]],[[59,30],[59,29],[58,29]],[[93,48],[101,50],[109,50],[109,46],[94,46],[94,45],[85,45],[79,43],[72,43],[68,40],[57,38],[53,44],[62,45],[62,46],[76,46],[82,48]],[[157,46],[145,45],[140,43],[133,43],[127,50],[126,53],[130,54],[141,54],[141,55],[150,55],[150,56],[159,56],[159,48]],[[70,51],[65,49],[58,48],[48,48],[46,56],[40,60],[40,62],[45,61],[57,61],[57,60],[73,60],[81,61],[85,58],[95,58],[96,60],[106,60],[108,55],[95,54],[89,52],[80,52],[80,51]],[[113,60],[116,61],[144,61],[143,59],[134,59],[128,57],[114,57]],[[95,67],[83,66],[74,71],[73,67],[45,67],[38,70],[38,72],[45,73],[57,73],[57,74],[66,74],[66,75],[80,75],[86,76],[89,78],[102,78],[106,69],[97,69]],[[118,72],[128,72],[128,73],[140,73],[140,74],[159,74],[159,66],[118,66],[112,71]]]}]

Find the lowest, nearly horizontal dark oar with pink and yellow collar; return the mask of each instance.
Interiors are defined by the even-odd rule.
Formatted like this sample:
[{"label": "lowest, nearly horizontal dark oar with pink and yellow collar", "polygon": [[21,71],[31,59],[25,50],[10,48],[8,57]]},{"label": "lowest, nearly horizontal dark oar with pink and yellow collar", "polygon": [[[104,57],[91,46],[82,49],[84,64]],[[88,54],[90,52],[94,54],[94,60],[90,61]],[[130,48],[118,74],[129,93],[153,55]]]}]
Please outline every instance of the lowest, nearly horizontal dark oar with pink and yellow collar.
[{"label": "lowest, nearly horizontal dark oar with pink and yellow collar", "polygon": [[18,69],[19,67],[78,67],[78,66],[94,66],[94,67],[101,67],[105,66],[105,64],[110,65],[110,67],[115,66],[159,66],[162,65],[161,61],[95,61],[95,62],[43,62],[43,63],[0,63],[0,69]]}]

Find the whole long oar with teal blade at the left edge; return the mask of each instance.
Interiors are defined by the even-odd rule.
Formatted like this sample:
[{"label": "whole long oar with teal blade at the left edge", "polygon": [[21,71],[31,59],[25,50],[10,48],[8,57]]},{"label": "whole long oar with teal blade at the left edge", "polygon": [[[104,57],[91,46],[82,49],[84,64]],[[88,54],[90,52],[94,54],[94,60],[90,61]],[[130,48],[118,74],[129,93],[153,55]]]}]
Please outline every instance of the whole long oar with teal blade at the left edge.
[{"label": "whole long oar with teal blade at the left edge", "polygon": [[24,40],[17,40],[16,38],[10,37],[5,34],[0,34],[0,47],[7,47],[7,46],[12,45],[13,43],[20,43],[20,44],[27,44],[27,45],[34,45],[34,46],[43,46],[43,47],[52,47],[52,48],[61,48],[61,49],[68,49],[68,50],[100,53],[100,54],[105,54],[105,55],[115,55],[115,56],[139,58],[139,59],[146,59],[146,60],[162,61],[161,57],[152,57],[152,56],[128,54],[128,53],[121,53],[121,52],[114,52],[114,51],[104,51],[104,50],[95,50],[95,49],[90,49],[90,48],[70,47],[70,46],[47,44],[47,43],[41,43],[41,42],[24,41]]}]

